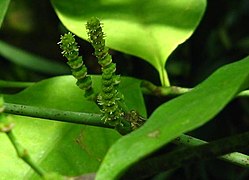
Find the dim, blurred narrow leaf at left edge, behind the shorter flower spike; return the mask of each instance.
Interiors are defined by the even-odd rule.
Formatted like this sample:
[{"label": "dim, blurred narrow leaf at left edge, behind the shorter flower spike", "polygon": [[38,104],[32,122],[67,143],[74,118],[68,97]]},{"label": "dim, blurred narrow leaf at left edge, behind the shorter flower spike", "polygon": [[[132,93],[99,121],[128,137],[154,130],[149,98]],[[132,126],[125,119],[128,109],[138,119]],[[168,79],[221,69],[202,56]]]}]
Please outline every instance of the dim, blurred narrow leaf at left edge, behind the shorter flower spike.
[{"label": "dim, blurred narrow leaf at left edge, behind the shorter flower spike", "polygon": [[66,65],[23,51],[3,41],[0,41],[0,55],[11,62],[42,73],[58,75],[69,72]]}]

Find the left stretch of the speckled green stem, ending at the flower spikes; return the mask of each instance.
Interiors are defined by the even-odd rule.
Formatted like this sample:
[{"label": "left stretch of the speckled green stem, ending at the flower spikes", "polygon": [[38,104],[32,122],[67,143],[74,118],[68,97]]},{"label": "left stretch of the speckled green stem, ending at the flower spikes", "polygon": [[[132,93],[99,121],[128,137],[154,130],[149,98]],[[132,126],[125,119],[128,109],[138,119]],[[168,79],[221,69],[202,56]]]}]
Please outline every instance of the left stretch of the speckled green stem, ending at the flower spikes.
[{"label": "left stretch of the speckled green stem, ending at the flower spikes", "polygon": [[11,103],[4,103],[4,106],[5,106],[5,112],[10,114],[112,128],[111,126],[104,124],[104,122],[101,120],[102,118],[101,114],[63,111],[58,109],[50,109],[50,108],[43,108],[36,106],[11,104]]}]

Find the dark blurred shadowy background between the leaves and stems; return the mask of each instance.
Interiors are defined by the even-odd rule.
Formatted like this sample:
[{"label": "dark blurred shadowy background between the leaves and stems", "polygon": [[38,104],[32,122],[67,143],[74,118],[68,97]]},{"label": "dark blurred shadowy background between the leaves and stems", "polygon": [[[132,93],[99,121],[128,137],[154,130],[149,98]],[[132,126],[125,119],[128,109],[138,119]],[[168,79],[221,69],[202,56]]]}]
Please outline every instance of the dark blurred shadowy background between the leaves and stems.
[{"label": "dark blurred shadowy background between the leaves and stems", "polygon": [[[249,1],[209,0],[205,15],[194,34],[170,56],[167,70],[172,85],[194,87],[224,64],[235,62],[249,52]],[[57,45],[66,29],[49,1],[12,0],[0,31],[0,39],[26,51],[59,63],[66,60]],[[78,39],[91,73],[99,73],[91,46]],[[160,84],[156,70],[145,61],[111,51],[118,73]],[[0,56],[0,79],[39,81],[54,75],[34,72]],[[236,76],[236,75],[235,75]],[[169,98],[146,96],[149,114]],[[249,101],[233,100],[205,126],[190,132],[204,140],[215,140],[248,130]],[[221,161],[186,165],[172,179],[246,179],[249,171]]]}]

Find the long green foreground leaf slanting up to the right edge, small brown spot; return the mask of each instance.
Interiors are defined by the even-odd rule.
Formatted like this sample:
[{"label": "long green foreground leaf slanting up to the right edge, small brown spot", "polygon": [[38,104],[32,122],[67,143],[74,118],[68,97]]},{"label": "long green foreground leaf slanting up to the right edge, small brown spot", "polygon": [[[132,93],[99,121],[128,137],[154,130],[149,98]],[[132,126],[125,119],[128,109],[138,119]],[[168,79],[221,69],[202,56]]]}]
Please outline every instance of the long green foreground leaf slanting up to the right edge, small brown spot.
[{"label": "long green foreground leaf slanting up to the right edge, small brown spot", "polygon": [[249,86],[248,69],[249,56],[220,68],[189,93],[158,107],[144,126],[110,148],[96,179],[117,179],[132,164],[211,120]]}]

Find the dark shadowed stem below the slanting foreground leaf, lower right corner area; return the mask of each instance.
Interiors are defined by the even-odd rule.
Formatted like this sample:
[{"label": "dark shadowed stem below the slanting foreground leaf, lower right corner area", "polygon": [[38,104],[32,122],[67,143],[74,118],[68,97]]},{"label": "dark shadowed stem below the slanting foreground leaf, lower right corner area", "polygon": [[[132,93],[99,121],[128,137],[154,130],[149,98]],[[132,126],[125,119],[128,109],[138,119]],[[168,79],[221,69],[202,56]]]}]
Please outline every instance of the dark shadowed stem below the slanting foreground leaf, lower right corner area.
[{"label": "dark shadowed stem below the slanting foreground leaf, lower right corner area", "polygon": [[[186,135],[184,135],[183,138],[177,138],[175,141],[179,142],[179,139],[183,139],[181,144],[185,144],[188,140],[192,139],[192,137],[189,138],[185,136]],[[249,132],[210,143],[201,143],[200,145],[197,145],[200,143],[200,141],[198,141],[191,142],[190,144],[193,145],[191,147],[177,149],[167,154],[142,160],[138,165],[135,165],[130,172],[128,171],[124,179],[133,179],[134,175],[139,177],[139,179],[144,179],[162,171],[178,168],[184,164],[195,163],[199,160],[208,160],[229,152],[246,149],[249,147]],[[222,156],[222,158],[224,159],[224,156]],[[245,162],[240,162],[239,164],[243,164],[244,167],[248,168],[248,158],[249,156],[244,159]]]}]

